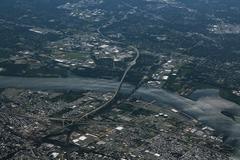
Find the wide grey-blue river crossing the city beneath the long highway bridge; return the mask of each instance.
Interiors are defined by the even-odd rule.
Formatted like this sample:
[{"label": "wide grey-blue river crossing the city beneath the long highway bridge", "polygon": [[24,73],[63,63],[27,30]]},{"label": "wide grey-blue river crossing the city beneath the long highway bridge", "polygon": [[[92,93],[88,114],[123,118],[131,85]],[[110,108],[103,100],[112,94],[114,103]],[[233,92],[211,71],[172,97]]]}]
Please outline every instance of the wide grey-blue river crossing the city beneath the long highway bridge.
[{"label": "wide grey-blue river crossing the city beneath the long highway bridge", "polygon": [[[27,88],[36,90],[115,91],[119,82],[93,78],[22,78],[0,76],[0,88]],[[129,93],[134,86],[123,84],[121,92]],[[218,90],[197,90],[191,99],[163,89],[139,88],[133,97],[159,106],[176,108],[214,128],[226,137],[227,143],[240,144],[240,124],[221,113],[224,109],[239,110],[240,106],[218,96]],[[239,145],[240,146],[240,145]]]}]

